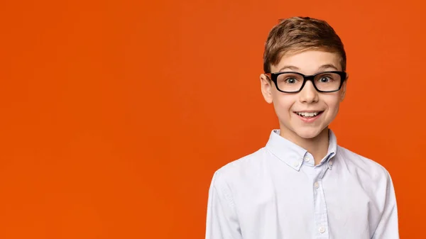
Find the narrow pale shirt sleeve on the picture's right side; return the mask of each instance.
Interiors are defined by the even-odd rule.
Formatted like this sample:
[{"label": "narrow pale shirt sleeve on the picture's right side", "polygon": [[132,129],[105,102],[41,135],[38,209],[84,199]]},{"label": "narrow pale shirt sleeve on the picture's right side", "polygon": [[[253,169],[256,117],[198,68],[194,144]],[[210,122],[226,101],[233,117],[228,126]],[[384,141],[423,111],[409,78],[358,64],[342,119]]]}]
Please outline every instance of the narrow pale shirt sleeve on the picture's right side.
[{"label": "narrow pale shirt sleeve on the picture's right side", "polygon": [[391,175],[387,172],[386,200],[381,221],[371,239],[399,239],[398,210]]}]

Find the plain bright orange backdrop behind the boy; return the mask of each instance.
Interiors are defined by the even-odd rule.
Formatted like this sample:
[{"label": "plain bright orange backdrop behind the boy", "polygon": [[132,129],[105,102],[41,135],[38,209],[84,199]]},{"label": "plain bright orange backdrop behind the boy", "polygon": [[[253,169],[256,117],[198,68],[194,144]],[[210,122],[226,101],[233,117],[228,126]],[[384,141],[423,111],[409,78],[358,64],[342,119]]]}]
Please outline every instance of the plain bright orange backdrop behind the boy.
[{"label": "plain bright orange backdrop behind the boy", "polygon": [[339,144],[386,167],[422,238],[420,1],[1,1],[0,238],[203,238],[216,169],[277,121],[258,81],[278,18],[344,41]]}]

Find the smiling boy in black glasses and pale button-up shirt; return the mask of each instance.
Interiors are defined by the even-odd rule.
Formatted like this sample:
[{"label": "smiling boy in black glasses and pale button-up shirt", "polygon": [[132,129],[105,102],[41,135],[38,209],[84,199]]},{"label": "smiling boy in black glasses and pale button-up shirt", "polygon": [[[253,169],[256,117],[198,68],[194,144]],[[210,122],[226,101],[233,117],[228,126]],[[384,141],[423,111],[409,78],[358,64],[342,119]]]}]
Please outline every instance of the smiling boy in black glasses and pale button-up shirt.
[{"label": "smiling boy in black glasses and pale button-up shirt", "polygon": [[206,238],[399,238],[388,171],[337,145],[328,128],[348,79],[333,28],[314,18],[280,21],[263,62],[261,91],[280,129],[214,173]]}]

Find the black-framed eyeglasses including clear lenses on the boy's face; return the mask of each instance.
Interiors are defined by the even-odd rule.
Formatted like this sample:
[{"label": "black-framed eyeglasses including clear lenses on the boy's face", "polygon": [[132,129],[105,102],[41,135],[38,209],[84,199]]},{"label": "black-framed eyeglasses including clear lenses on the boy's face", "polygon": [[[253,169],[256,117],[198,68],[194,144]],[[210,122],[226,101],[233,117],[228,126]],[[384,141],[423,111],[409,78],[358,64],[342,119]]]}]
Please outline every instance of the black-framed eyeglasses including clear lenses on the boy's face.
[{"label": "black-framed eyeglasses including clear lenses on the boy's face", "polygon": [[307,81],[311,81],[315,89],[322,93],[339,91],[347,79],[346,72],[318,72],[305,75],[299,72],[265,73],[273,81],[278,91],[284,93],[297,93],[302,91]]}]

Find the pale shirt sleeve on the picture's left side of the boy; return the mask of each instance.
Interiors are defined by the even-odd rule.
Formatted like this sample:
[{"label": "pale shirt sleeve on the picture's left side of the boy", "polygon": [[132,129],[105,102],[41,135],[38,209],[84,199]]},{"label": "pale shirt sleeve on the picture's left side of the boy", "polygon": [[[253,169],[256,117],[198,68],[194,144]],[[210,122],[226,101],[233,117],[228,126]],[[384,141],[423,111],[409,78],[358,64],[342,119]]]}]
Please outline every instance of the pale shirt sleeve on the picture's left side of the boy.
[{"label": "pale shirt sleeve on the picture's left side of the boy", "polygon": [[216,172],[209,188],[206,239],[242,239],[231,190]]}]

